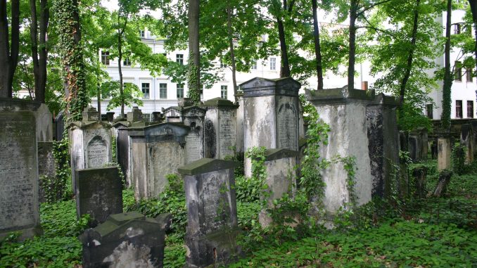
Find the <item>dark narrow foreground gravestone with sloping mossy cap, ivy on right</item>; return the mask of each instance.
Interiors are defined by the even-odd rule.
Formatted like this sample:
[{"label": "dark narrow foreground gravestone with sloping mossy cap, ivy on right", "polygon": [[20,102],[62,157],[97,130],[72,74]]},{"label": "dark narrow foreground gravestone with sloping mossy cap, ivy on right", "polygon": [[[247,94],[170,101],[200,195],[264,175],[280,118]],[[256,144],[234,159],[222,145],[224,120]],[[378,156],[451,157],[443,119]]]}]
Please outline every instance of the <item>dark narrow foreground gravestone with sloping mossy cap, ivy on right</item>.
[{"label": "dark narrow foreground gravestone with sloping mossy cap, ivy on right", "polygon": [[240,254],[235,195],[235,162],[203,158],[179,168],[187,205],[186,265],[208,267]]}]

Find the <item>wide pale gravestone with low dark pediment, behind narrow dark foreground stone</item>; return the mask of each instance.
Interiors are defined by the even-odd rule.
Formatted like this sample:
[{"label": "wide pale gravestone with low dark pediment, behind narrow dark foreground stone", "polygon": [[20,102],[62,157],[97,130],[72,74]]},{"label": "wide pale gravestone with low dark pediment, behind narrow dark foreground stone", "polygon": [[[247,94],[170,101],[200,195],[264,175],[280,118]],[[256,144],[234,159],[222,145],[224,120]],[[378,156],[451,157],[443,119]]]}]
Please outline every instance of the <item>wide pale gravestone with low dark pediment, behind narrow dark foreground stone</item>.
[{"label": "wide pale gravestone with low dark pediment, behind narrow dark foreground stone", "polygon": [[167,186],[167,174],[186,163],[190,127],[162,123],[129,127],[129,175],[136,200],[157,198]]}]

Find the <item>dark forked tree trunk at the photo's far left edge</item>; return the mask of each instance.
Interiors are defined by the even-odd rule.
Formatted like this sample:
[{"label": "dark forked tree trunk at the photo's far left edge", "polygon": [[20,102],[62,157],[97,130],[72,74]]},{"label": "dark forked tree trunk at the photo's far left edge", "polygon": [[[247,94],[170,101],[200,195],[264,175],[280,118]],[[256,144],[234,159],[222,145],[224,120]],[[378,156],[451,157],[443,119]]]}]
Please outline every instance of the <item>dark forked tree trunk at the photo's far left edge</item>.
[{"label": "dark forked tree trunk at the photo's far left edge", "polygon": [[20,46],[20,1],[11,0],[11,36],[8,34],[6,0],[0,0],[0,97],[12,97],[12,83]]}]

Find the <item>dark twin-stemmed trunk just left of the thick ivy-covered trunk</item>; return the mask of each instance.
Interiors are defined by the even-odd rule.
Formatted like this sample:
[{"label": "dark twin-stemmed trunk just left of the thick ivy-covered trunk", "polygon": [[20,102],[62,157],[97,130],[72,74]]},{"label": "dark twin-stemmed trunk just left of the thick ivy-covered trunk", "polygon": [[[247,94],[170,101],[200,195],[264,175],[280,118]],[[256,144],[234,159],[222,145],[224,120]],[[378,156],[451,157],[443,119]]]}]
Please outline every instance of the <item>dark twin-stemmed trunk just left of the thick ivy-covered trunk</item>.
[{"label": "dark twin-stemmed trunk just left of the thick ivy-covered trunk", "polygon": [[[34,75],[34,99],[40,103],[45,102],[46,90],[46,31],[49,23],[49,6],[46,0],[40,0],[39,25],[37,19],[37,2],[30,0],[32,25],[30,26],[30,39],[32,40],[32,63]],[[39,36],[38,36],[39,30]]]}]

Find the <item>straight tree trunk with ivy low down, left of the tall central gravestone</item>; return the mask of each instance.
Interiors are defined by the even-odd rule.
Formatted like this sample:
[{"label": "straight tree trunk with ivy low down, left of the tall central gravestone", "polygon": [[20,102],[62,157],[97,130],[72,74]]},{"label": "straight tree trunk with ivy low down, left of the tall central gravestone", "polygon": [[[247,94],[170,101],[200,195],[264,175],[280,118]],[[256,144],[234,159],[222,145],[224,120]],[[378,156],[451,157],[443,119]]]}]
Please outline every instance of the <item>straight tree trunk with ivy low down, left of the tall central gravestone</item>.
[{"label": "straight tree trunk with ivy low down, left of the tall central gravestone", "polygon": [[201,102],[201,54],[199,51],[199,12],[200,1],[189,0],[189,79],[188,96],[193,103]]}]

